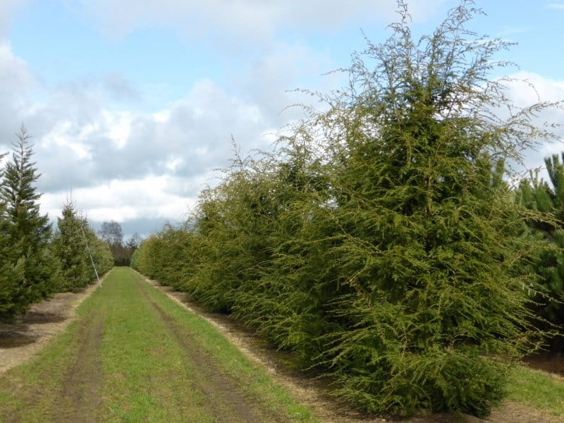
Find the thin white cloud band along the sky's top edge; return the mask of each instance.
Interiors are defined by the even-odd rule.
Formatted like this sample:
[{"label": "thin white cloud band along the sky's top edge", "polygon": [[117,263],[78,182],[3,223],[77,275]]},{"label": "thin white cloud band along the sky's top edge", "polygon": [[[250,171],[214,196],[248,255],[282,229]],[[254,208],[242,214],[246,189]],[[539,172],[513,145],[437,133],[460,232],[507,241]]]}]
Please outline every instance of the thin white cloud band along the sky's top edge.
[{"label": "thin white cloud band along the sky's top edge", "polygon": [[[212,37],[230,43],[231,37],[264,42],[282,27],[333,30],[361,18],[388,21],[396,0],[78,0],[87,16],[95,16],[104,30],[121,37],[143,27],[176,27],[195,38]],[[424,20],[446,0],[412,2],[414,20]],[[223,38],[223,35],[230,37]]]}]

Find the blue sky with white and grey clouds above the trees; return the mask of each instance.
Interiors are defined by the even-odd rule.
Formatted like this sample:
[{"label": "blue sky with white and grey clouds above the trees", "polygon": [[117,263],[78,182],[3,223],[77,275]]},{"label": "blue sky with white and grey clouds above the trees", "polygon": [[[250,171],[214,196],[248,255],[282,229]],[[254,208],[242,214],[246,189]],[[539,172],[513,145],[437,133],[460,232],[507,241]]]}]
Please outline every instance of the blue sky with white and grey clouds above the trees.
[{"label": "blue sky with white and grey clouds above the trees", "polygon": [[[458,1],[409,1],[415,34]],[[511,98],[564,100],[564,1],[477,0],[470,29],[515,44],[503,59]],[[276,133],[329,92],[353,51],[384,42],[395,0],[0,0],[0,152],[22,123],[42,175],[42,212],[72,197],[94,228],[147,236],[184,221],[233,157],[271,149]],[[327,74],[329,73],[329,74]],[[498,77],[501,75],[493,75]],[[539,121],[564,123],[564,111]],[[564,131],[560,135],[564,137]],[[564,145],[526,154],[543,164]]]}]

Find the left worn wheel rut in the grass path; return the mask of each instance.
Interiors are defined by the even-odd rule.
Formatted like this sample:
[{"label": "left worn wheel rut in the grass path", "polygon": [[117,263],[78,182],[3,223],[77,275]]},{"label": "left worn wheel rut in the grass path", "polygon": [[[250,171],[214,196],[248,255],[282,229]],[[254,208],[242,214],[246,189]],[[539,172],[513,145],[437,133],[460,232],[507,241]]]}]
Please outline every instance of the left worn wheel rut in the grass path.
[{"label": "left worn wheel rut in the grass path", "polygon": [[104,316],[97,310],[81,321],[78,332],[80,350],[63,379],[52,421],[97,422],[96,412],[102,403],[98,390],[102,384],[100,348],[103,330]]}]

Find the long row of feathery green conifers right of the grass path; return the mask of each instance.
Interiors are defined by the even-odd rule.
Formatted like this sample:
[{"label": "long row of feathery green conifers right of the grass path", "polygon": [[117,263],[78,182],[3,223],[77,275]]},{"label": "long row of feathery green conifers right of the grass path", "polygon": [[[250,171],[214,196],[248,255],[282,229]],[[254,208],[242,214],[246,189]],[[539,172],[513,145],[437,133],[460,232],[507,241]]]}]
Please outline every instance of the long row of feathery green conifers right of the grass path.
[{"label": "long row of feathery green conifers right of the grass path", "polygon": [[555,190],[504,178],[553,137],[532,121],[555,104],[517,109],[489,78],[507,45],[466,29],[472,1],[419,41],[398,5],[326,111],[277,154],[236,158],[132,265],[255,327],[364,410],[484,415],[508,363],[543,341],[537,312],[562,298],[564,173],[554,161]]}]

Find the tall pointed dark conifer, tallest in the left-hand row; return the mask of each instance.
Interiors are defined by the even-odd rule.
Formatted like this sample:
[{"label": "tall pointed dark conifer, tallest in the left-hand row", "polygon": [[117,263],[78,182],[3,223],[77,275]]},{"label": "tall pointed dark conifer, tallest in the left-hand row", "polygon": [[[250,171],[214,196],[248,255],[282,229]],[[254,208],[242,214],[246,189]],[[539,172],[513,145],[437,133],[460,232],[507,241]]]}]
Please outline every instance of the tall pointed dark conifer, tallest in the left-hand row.
[{"label": "tall pointed dark conifer, tallest in the left-hand row", "polygon": [[51,224],[47,215],[39,213],[37,200],[41,194],[34,186],[39,173],[32,161],[30,135],[22,125],[17,136],[12,161],[8,161],[4,171],[0,199],[6,205],[6,235],[20,254],[13,263],[25,258],[25,282],[18,288],[18,301],[25,308],[56,290],[58,266],[49,250]]}]

